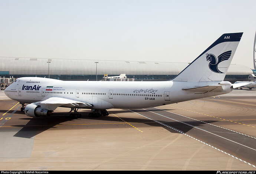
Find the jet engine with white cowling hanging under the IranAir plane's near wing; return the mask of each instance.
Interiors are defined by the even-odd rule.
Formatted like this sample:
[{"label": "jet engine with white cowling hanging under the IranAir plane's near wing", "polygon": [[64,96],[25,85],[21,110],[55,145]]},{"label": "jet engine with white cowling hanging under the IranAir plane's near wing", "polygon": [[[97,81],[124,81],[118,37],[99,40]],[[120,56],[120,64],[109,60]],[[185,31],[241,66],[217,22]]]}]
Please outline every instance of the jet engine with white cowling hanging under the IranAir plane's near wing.
[{"label": "jet engine with white cowling hanging under the IranAir plane's near wing", "polygon": [[49,116],[51,114],[51,111],[45,108],[40,108],[38,105],[35,104],[28,104],[25,107],[25,114],[31,117]]}]

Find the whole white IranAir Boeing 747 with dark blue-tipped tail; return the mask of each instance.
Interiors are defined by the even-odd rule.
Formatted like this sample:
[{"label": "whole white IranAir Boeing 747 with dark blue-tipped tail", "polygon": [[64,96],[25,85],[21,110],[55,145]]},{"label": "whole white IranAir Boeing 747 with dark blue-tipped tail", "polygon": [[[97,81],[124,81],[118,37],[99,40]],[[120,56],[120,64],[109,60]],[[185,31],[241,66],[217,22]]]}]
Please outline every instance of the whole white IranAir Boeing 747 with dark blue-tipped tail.
[{"label": "whole white IranAir Boeing 747 with dark blue-tipped tail", "polygon": [[105,116],[111,108],[150,108],[225,94],[233,88],[223,80],[242,34],[222,35],[170,81],[70,82],[23,77],[4,92],[32,117],[50,115],[57,107],[70,108],[76,117],[81,116],[79,108],[91,109],[90,116]]}]

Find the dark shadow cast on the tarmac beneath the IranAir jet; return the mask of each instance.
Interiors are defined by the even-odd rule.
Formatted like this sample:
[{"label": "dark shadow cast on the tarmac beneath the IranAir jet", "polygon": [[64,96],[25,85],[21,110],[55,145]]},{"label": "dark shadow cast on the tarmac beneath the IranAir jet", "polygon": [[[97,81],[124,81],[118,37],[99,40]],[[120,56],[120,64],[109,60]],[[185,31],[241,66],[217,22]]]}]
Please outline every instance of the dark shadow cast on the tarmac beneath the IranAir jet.
[{"label": "dark shadow cast on the tarmac beneath the IranAir jet", "polygon": [[[150,111],[160,111],[158,109],[151,109]],[[136,110],[137,111],[137,110]],[[139,110],[140,112],[148,112],[145,110]],[[82,111],[80,112],[82,114],[81,118],[78,119],[95,119],[95,120],[103,120],[103,121],[115,121],[115,122],[123,122],[120,118],[122,117],[116,117],[113,114],[117,114],[117,113],[125,113],[125,112],[129,112],[131,113],[131,111],[128,111],[126,109],[124,110],[119,110],[119,111],[111,111],[111,114],[109,114],[108,116],[100,116],[100,117],[89,117],[89,111]],[[22,127],[22,129],[20,129],[20,131],[18,131],[14,137],[21,137],[21,138],[32,138],[34,136],[36,136],[37,134],[40,134],[44,131],[46,131],[47,129],[50,128],[56,128],[56,125],[61,125],[63,122],[67,122],[67,121],[73,121],[73,123],[68,123],[68,124],[79,124],[76,122],[76,118],[73,118],[71,116],[69,116],[69,113],[67,112],[58,112],[58,113],[54,113],[52,116],[47,116],[47,117],[38,117],[38,118],[20,118],[23,120],[29,120],[29,122],[27,122],[26,125],[12,125],[13,127]],[[166,127],[162,124],[159,124],[155,121],[152,121],[150,119],[138,119],[138,118],[132,118],[132,117],[125,117],[122,118],[124,119],[126,122],[129,123],[143,123],[143,124],[147,124],[150,126],[157,126],[157,127],[163,127],[164,129],[172,132],[172,133],[186,133],[187,131],[189,131],[190,129],[192,129],[193,127],[191,127],[190,125],[193,125],[195,127],[197,126],[203,126],[204,123],[200,122],[200,121],[189,121],[189,122],[177,122],[177,121],[161,121],[158,120],[159,122],[163,122],[163,124],[168,125],[172,128],[178,129],[181,132],[178,132],[172,128]],[[207,123],[211,123],[211,122],[216,122],[216,121],[205,121]],[[104,127],[102,127],[104,128]],[[86,129],[86,128],[85,128]]]}]

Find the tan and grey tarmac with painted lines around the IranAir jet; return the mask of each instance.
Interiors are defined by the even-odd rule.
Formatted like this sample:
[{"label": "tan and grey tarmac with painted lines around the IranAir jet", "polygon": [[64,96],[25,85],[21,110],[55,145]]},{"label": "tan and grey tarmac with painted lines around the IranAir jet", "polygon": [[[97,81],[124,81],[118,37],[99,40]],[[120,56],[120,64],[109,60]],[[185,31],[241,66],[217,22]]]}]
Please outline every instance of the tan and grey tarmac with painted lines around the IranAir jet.
[{"label": "tan and grey tarmac with painted lines around the IranAir jet", "polygon": [[256,89],[81,118],[30,118],[0,91],[0,170],[256,169]]}]

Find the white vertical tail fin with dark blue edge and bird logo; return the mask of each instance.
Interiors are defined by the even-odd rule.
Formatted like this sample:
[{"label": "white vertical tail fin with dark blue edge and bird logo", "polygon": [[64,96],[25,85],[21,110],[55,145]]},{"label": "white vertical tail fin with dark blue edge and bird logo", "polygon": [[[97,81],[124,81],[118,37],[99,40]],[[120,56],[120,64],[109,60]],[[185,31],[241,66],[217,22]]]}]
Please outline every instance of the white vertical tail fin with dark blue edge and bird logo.
[{"label": "white vertical tail fin with dark blue edge and bird logo", "polygon": [[220,36],[171,81],[223,81],[243,33]]}]

